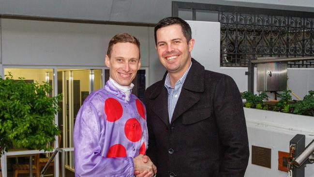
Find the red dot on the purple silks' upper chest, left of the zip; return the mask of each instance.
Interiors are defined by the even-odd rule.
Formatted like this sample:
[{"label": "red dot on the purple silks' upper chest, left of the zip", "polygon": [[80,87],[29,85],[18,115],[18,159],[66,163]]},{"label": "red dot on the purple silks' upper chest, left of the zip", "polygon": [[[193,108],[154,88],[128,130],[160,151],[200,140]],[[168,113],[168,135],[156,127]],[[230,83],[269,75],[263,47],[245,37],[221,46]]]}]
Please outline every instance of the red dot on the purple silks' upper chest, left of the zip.
[{"label": "red dot on the purple silks' upper chest, left of the zip", "polygon": [[114,122],[121,118],[123,113],[122,106],[115,98],[107,98],[105,100],[105,114],[107,121]]}]

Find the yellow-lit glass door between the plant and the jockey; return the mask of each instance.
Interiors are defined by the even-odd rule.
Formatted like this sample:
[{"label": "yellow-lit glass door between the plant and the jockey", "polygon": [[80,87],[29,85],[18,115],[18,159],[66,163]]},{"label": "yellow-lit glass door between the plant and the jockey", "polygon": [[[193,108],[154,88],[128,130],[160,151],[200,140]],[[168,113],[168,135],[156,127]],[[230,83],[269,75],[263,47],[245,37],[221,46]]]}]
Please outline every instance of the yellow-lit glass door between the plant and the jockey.
[{"label": "yellow-lit glass door between the plant and the jockey", "polygon": [[[60,147],[73,147],[73,129],[79,108],[86,97],[102,87],[101,69],[58,69],[58,94],[63,94],[59,103],[59,126],[62,130]],[[74,170],[73,152],[65,156],[68,170]]]}]

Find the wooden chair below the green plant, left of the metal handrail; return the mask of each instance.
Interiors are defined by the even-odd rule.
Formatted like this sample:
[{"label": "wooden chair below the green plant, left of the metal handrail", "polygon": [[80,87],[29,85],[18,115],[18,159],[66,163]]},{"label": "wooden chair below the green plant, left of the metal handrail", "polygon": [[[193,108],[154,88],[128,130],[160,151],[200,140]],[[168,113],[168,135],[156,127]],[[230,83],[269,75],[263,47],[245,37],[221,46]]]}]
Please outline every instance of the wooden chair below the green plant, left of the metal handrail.
[{"label": "wooden chair below the green plant, left of the metal handrail", "polygon": [[[32,165],[32,173],[35,174],[36,177],[40,176],[39,172],[39,154],[33,156],[34,161]],[[17,177],[18,174],[29,174],[30,173],[30,165],[29,164],[14,164],[13,168],[13,177]]]}]

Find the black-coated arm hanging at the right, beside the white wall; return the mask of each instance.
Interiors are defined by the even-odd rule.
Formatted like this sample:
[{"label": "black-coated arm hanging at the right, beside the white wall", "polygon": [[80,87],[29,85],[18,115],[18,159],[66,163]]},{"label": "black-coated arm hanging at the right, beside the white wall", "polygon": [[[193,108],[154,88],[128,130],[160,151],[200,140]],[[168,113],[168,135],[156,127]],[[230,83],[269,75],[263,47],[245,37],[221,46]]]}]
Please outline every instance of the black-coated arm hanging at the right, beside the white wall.
[{"label": "black-coated arm hanging at the right, beside the white wall", "polygon": [[213,99],[219,137],[224,145],[220,177],[243,177],[249,160],[249,143],[239,89],[224,76],[218,81]]}]

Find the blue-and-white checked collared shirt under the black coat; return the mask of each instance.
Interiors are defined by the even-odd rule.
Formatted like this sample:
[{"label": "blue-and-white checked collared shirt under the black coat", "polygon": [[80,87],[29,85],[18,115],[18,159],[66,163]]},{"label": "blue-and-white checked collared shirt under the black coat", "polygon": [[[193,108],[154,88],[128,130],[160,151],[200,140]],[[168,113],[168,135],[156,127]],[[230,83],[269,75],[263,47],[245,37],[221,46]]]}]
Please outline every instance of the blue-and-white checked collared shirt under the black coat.
[{"label": "blue-and-white checked collared shirt under the black coat", "polygon": [[170,84],[170,78],[169,78],[169,73],[167,74],[165,81],[164,81],[164,87],[168,90],[168,114],[169,114],[169,124],[171,123],[171,119],[172,119],[172,114],[175,111],[181,90],[182,90],[182,86],[184,83],[184,80],[186,78],[186,76],[189,73],[189,70],[192,66],[192,62],[189,66],[189,68],[185,71],[185,73],[183,74],[183,76],[176,82],[175,87],[172,88],[171,84]]}]

